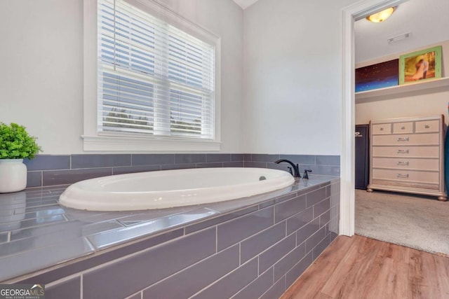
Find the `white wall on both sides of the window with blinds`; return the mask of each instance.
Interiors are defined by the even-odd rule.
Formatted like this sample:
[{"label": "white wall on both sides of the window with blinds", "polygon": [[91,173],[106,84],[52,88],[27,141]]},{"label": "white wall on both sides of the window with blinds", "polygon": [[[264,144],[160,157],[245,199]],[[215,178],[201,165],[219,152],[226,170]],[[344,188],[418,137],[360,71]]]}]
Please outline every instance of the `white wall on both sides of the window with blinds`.
[{"label": "white wall on both sides of the window with blinds", "polygon": [[[243,11],[232,0],[166,0],[222,37],[222,152],[241,147]],[[83,153],[83,0],[1,1],[0,121],[46,154]]]}]

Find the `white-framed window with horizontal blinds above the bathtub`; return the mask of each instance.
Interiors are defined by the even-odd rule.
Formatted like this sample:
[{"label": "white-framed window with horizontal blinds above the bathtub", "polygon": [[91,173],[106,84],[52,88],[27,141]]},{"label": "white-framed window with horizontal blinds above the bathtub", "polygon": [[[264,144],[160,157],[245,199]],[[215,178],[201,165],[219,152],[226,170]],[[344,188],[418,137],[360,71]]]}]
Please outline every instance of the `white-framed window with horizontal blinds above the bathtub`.
[{"label": "white-framed window with horizontal blinds above the bathtub", "polygon": [[[85,74],[85,104],[93,94],[86,88],[96,90],[95,132],[85,121],[84,149],[133,150],[136,142],[136,150],[219,149],[219,39],[150,0],[98,0],[96,10],[96,86]],[[85,107],[86,114],[93,116]]]}]

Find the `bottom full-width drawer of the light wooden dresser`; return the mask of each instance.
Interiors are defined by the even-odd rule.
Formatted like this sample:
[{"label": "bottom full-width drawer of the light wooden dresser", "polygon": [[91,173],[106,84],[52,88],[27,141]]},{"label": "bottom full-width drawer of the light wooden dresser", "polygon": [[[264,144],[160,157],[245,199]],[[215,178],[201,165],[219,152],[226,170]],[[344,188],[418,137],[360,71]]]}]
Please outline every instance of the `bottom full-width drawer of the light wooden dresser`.
[{"label": "bottom full-width drawer of the light wooden dresser", "polygon": [[413,170],[377,169],[373,168],[373,179],[410,181],[421,183],[439,183],[439,172],[423,172]]}]

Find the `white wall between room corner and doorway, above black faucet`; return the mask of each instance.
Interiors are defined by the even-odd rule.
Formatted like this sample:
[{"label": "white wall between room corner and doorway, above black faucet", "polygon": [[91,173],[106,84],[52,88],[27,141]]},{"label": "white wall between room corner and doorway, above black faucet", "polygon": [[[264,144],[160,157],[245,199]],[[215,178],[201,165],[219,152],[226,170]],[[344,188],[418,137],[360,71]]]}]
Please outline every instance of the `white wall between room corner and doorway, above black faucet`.
[{"label": "white wall between room corner and doorway, above black faucet", "polygon": [[249,153],[339,155],[342,8],[355,0],[259,0],[244,11]]}]

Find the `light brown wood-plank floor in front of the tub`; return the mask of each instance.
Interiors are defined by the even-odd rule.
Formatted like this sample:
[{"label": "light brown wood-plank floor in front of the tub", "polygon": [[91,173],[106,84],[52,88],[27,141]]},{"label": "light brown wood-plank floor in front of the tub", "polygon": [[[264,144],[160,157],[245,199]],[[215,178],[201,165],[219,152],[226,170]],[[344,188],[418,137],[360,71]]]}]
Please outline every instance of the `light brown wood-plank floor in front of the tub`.
[{"label": "light brown wood-plank floor in front of the tub", "polygon": [[339,236],[281,299],[449,298],[449,258]]}]

